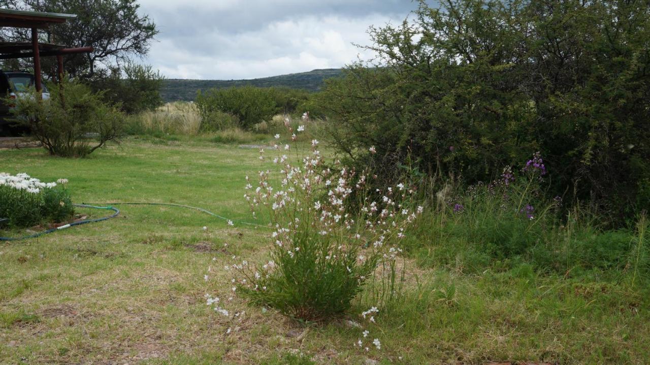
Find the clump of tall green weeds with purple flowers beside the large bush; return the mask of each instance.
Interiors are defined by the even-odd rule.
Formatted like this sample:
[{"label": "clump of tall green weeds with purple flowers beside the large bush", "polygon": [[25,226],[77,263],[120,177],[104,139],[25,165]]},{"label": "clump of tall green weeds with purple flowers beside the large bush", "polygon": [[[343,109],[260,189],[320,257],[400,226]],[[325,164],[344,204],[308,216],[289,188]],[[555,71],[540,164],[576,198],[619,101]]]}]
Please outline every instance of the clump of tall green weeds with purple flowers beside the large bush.
[{"label": "clump of tall green weeds with purple flowers beside the large bush", "polygon": [[[632,263],[635,270],[650,267],[643,238],[635,238],[632,229],[604,230],[579,205],[567,209],[562,197],[548,199],[549,175],[536,153],[521,170],[506,166],[489,184],[441,193],[405,247],[423,266],[468,272],[529,265],[538,272],[578,275],[624,271]],[[643,232],[647,223],[643,216],[639,221],[637,231]]]}]

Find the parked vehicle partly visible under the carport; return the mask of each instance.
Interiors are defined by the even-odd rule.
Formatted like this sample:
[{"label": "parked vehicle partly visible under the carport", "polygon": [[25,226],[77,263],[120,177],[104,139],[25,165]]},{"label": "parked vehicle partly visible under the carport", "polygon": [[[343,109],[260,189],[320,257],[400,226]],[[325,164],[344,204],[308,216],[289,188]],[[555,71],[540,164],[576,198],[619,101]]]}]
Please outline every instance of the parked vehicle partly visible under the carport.
[{"label": "parked vehicle partly visible under the carport", "polygon": [[[25,94],[33,87],[34,74],[29,71],[0,70],[0,136],[12,132],[11,110],[16,107],[16,104],[7,101],[7,97],[18,101],[21,94]],[[45,84],[42,84],[42,95],[43,99],[49,99],[49,92]]]}]

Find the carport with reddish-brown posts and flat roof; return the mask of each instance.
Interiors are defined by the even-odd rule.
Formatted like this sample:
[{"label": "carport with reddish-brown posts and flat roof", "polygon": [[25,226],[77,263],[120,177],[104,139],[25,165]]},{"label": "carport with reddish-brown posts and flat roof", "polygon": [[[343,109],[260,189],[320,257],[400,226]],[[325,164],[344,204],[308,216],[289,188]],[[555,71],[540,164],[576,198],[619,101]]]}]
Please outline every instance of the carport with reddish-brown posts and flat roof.
[{"label": "carport with reddish-brown posts and flat roof", "polygon": [[31,42],[0,42],[0,60],[9,58],[34,58],[34,86],[42,90],[42,74],[40,58],[56,56],[59,69],[59,81],[62,78],[63,55],[92,52],[92,47],[66,48],[63,45],[39,43],[38,29],[47,29],[50,25],[64,23],[77,18],[73,14],[58,14],[48,12],[29,12],[0,8],[0,27],[28,28],[32,31]]}]

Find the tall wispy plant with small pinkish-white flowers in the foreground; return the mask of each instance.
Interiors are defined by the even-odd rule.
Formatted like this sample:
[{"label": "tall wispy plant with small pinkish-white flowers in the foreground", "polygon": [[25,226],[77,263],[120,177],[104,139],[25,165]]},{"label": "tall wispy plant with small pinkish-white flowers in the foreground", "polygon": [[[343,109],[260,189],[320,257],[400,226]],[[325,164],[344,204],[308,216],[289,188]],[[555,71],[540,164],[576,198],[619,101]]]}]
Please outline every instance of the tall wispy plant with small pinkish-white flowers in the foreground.
[{"label": "tall wispy plant with small pinkish-white flowers in the foreground", "polygon": [[[301,131],[303,126],[296,132]],[[285,153],[291,149],[278,148]],[[260,159],[265,159],[263,150]],[[386,291],[395,292],[395,260],[401,252],[397,241],[422,211],[400,203],[413,191],[398,184],[377,191],[381,199],[370,199],[366,194],[370,175],[335,164],[334,178],[333,171],[324,167],[317,140],[311,142],[302,164],[293,160],[298,159],[287,155],[273,159],[280,166],[278,188],[270,171],[259,171],[255,187],[246,178],[244,197],[253,214],[265,209],[274,227],[271,260],[255,268],[248,262],[235,264],[242,277],[233,290],[239,289],[253,303],[313,321],[346,312],[373,275],[382,275]],[[358,214],[346,209],[352,197],[358,199]],[[377,270],[380,266],[383,270]]]}]

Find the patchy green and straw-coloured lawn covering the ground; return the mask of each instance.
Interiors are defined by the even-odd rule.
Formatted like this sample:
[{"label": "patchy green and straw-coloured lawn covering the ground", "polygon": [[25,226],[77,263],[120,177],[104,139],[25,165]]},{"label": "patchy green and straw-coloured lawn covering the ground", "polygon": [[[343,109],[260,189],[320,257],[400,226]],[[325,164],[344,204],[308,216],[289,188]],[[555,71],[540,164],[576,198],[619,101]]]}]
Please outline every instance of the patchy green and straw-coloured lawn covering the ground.
[{"label": "patchy green and straw-coloured lawn covering the ground", "polygon": [[[362,330],[344,321],[304,327],[237,296],[227,301],[232,274],[224,266],[231,257],[258,262],[267,251],[265,229],[239,223],[252,221],[242,195],[244,176],[261,167],[258,155],[236,145],[133,138],[84,159],[49,157],[41,149],[0,151],[0,171],[69,179],[75,203],[179,203],[235,221],[230,227],[194,210],[120,206],[114,220],[0,244],[0,362],[649,361],[648,290],[599,275],[540,277],[525,268],[467,275],[424,270],[409,260],[406,294],[381,308],[376,325],[351,317],[382,342],[381,350],[367,352],[354,347]],[[206,293],[239,315],[214,312]],[[355,309],[371,305],[362,296]],[[307,356],[291,355],[300,352]]]}]

